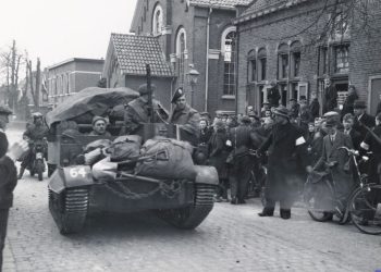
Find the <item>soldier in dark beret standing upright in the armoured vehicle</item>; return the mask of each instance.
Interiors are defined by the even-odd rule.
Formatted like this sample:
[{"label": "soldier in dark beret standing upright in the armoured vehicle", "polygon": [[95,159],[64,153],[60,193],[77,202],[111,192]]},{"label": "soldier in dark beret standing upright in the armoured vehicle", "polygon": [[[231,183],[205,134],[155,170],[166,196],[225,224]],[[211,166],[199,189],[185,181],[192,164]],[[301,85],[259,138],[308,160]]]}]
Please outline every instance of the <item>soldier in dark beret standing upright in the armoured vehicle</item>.
[{"label": "soldier in dark beret standing upright in the armoured vehicle", "polygon": [[183,88],[176,89],[171,102],[174,104],[174,108],[169,122],[179,125],[181,139],[197,145],[200,114],[187,104]]}]

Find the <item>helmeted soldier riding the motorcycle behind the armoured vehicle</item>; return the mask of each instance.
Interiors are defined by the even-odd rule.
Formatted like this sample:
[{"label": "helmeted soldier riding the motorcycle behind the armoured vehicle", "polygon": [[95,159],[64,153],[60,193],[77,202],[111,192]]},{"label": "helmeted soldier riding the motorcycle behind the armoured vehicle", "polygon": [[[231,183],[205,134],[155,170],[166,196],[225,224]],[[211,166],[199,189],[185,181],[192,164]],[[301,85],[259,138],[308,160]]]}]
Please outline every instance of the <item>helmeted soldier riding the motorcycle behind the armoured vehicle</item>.
[{"label": "helmeted soldier riding the motorcycle behind the armoured vehicle", "polygon": [[[33,144],[36,140],[46,141],[48,137],[48,127],[44,123],[42,114],[40,112],[35,112],[33,113],[33,124],[27,126],[26,132],[23,134],[23,138],[28,140],[30,144]],[[47,150],[47,148],[45,148],[45,150]],[[32,156],[32,148],[29,148],[29,151],[24,156],[23,161],[21,163],[19,180],[23,177],[26,166],[30,163],[30,160],[33,160]],[[46,153],[45,157],[47,157]]]}]

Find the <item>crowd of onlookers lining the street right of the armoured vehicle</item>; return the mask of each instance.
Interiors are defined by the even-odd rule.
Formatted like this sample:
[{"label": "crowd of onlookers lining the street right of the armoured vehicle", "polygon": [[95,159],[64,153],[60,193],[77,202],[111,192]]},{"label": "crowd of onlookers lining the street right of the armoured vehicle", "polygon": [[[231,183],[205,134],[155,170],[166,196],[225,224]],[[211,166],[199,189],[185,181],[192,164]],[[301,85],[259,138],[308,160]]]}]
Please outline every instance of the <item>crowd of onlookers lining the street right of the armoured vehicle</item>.
[{"label": "crowd of onlookers lining the street right of the armoured vehicle", "polygon": [[[339,195],[345,198],[356,176],[348,154],[337,150],[341,146],[371,152],[370,163],[360,170],[371,182],[380,183],[381,109],[376,118],[369,115],[353,86],[342,110],[331,99],[323,114],[316,94],[310,103],[304,96],[298,101],[291,99],[288,108],[279,106],[276,91],[269,96],[261,112],[248,107],[247,115],[220,114],[213,120],[201,113],[200,145],[207,147],[207,163],[216,166],[220,178],[216,201],[245,203],[249,182],[254,182],[255,193],[265,188],[267,205],[259,215],[273,215],[275,201],[280,201],[281,218],[288,219],[308,173],[330,163],[335,164],[331,168]],[[267,168],[266,178],[261,165]]]}]

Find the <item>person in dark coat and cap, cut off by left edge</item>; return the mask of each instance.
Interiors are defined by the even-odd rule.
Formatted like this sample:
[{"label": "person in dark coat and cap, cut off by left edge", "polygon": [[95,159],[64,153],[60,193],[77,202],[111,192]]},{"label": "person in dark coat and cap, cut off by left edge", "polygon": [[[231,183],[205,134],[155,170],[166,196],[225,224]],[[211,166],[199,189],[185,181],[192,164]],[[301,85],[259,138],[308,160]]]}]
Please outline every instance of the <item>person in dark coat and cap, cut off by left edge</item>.
[{"label": "person in dark coat and cap, cut off by left edge", "polygon": [[0,271],[2,267],[2,250],[4,248],[9,209],[13,202],[13,189],[17,184],[17,170],[14,162],[5,156],[8,139],[4,133],[8,116],[12,111],[0,106]]}]

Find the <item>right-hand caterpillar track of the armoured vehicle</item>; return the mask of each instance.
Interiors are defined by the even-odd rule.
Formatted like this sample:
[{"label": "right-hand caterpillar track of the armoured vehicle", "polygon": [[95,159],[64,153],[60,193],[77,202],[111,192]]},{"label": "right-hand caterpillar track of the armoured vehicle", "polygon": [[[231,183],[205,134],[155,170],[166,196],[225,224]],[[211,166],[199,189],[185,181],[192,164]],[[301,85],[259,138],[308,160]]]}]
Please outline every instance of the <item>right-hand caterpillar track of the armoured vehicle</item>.
[{"label": "right-hand caterpillar track of the armoured vehicle", "polygon": [[216,186],[208,184],[195,185],[195,202],[186,208],[160,210],[159,217],[168,223],[183,230],[197,227],[213,209]]}]

